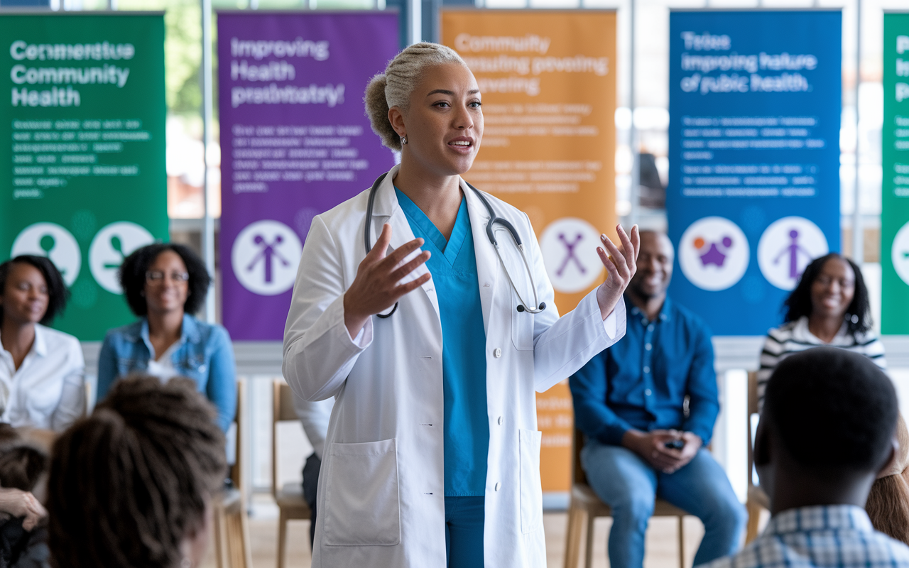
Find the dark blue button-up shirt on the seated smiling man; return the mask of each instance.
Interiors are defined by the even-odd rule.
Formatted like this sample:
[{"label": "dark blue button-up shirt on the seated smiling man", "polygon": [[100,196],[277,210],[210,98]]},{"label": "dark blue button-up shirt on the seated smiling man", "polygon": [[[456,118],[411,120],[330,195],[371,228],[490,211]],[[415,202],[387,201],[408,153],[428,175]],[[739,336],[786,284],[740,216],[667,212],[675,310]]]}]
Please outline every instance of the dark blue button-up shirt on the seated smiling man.
[{"label": "dark blue button-up shirt on the seated smiling man", "polygon": [[568,381],[575,424],[587,437],[612,445],[620,445],[631,428],[674,428],[710,443],[720,404],[707,325],[668,297],[653,322],[624,302],[628,324],[622,341]]}]

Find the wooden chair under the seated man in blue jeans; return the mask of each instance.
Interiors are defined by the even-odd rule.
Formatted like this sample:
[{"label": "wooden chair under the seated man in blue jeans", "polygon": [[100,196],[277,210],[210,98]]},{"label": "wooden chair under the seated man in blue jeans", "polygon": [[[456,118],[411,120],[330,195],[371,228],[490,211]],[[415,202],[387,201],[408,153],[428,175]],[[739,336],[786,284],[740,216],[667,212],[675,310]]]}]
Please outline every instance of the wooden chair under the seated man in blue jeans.
[{"label": "wooden chair under the seated man in blue jeans", "polygon": [[[587,476],[581,467],[582,434],[576,428],[572,438],[572,488],[571,504],[568,506],[568,532],[565,543],[564,568],[577,568],[581,553],[581,531],[584,521],[587,524],[586,542],[584,543],[584,568],[590,568],[594,562],[594,520],[597,517],[612,516],[612,509],[600,501],[594,490],[587,484]],[[657,499],[654,503],[654,517],[678,517],[679,525],[679,568],[684,568],[684,516],[682,509],[673,504]]]}]

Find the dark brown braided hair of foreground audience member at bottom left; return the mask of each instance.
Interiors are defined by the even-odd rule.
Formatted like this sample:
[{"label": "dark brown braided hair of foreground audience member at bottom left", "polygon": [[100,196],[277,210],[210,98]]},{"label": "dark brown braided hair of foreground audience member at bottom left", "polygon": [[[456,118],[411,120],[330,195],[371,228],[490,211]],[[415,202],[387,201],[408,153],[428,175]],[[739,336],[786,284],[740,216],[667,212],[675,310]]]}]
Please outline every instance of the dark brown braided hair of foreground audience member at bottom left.
[{"label": "dark brown braided hair of foreground audience member at bottom left", "polygon": [[188,379],[132,374],[54,444],[50,549],[62,568],[172,568],[223,483],[225,437]]}]

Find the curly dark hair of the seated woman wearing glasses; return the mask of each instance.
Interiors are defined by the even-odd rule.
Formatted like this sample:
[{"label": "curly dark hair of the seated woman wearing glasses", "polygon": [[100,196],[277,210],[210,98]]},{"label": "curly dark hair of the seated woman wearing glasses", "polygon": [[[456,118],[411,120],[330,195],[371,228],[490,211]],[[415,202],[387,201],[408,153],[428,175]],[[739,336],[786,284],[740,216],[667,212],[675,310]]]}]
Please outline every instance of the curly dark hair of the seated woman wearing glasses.
[{"label": "curly dark hair of the seated woman wearing glasses", "polygon": [[155,243],[148,244],[135,249],[132,254],[127,256],[120,265],[120,286],[126,296],[126,304],[133,314],[142,317],[148,314],[148,304],[145,304],[145,273],[148,267],[155,262],[158,254],[165,251],[174,251],[183,259],[186,264],[186,272],[189,274],[189,295],[186,296],[186,302],[183,304],[183,310],[186,314],[195,314],[205,305],[205,294],[208,294],[208,286],[212,283],[212,277],[205,269],[205,263],[185,244],[175,243]]}]

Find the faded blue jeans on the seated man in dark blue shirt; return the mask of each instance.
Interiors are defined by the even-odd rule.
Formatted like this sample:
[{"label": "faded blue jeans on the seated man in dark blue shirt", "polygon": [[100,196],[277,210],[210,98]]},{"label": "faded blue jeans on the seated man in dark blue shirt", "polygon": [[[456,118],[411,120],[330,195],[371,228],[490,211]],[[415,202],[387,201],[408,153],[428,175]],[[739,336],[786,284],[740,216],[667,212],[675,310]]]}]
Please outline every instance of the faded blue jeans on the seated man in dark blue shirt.
[{"label": "faded blue jeans on the seated man in dark blue shirt", "polygon": [[655,496],[704,523],[695,566],[738,550],[748,513],[723,468],[703,448],[683,468],[663,473],[627,448],[589,440],[581,451],[581,463],[594,492],[613,510],[608,546],[612,568],[644,564],[644,533],[654,513]]}]

